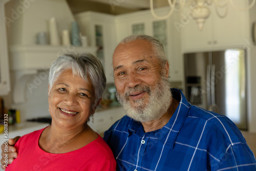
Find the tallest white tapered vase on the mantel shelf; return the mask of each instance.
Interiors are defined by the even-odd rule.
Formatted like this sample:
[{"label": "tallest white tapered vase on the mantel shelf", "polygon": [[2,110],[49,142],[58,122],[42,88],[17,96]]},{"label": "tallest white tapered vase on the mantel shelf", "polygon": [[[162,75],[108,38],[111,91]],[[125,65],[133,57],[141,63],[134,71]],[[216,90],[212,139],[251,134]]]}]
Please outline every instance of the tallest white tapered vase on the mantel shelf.
[{"label": "tallest white tapered vase on the mantel shelf", "polygon": [[49,22],[50,44],[60,45],[59,31],[57,27],[56,18],[52,17]]}]

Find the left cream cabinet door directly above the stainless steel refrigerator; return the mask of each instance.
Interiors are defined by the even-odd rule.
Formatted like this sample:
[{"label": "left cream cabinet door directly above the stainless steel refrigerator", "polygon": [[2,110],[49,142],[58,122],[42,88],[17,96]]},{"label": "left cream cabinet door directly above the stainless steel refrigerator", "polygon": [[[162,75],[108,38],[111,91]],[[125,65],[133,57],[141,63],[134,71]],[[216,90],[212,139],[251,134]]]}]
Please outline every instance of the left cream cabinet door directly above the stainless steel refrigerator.
[{"label": "left cream cabinet door directly above the stainless steel refrigerator", "polygon": [[[211,10],[212,11],[212,10]],[[197,51],[199,49],[208,49],[212,40],[212,14],[206,19],[204,28],[199,30],[196,20],[191,17],[192,10],[189,7],[185,7],[181,14],[179,22],[175,23],[175,26],[182,34],[182,51]]]}]

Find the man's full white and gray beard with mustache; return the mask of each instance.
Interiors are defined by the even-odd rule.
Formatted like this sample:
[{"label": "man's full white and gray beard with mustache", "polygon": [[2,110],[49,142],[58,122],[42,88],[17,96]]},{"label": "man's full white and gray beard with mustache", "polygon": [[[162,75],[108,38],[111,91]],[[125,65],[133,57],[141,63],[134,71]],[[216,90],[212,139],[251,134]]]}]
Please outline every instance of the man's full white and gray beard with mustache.
[{"label": "man's full white and gray beard with mustache", "polygon": [[[130,104],[129,95],[133,92],[145,91],[149,98],[133,101],[134,107]],[[129,88],[124,95],[116,93],[118,101],[122,104],[127,116],[139,122],[148,122],[160,119],[168,110],[172,102],[172,92],[170,92],[169,82],[161,77],[154,87],[142,86],[139,84],[134,88]]]}]

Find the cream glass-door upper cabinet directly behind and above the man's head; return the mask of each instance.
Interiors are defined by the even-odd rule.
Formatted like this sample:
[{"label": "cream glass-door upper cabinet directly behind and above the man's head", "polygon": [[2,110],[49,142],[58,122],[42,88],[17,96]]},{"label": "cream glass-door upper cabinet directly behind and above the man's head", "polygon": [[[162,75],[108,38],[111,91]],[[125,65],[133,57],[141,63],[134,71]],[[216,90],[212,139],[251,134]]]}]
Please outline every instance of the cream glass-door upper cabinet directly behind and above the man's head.
[{"label": "cream glass-door upper cabinet directly behind and above the man's head", "polygon": [[[155,10],[159,16],[169,12],[169,7]],[[116,16],[117,43],[131,34],[147,34],[159,39],[165,48],[169,61],[170,81],[182,81],[182,55],[180,51],[180,32],[175,28],[179,13],[174,12],[165,20],[154,18],[150,10]]]}]

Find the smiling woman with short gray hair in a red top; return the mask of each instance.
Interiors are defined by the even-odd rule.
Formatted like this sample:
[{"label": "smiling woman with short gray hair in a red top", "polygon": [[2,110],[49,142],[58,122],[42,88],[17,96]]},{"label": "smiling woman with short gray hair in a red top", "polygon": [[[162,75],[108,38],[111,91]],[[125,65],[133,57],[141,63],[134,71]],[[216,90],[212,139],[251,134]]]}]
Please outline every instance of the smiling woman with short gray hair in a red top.
[{"label": "smiling woman with short gray hair in a red top", "polygon": [[87,124],[105,88],[100,61],[91,54],[65,54],[51,66],[51,126],[21,137],[18,157],[6,170],[116,170],[110,147]]}]

